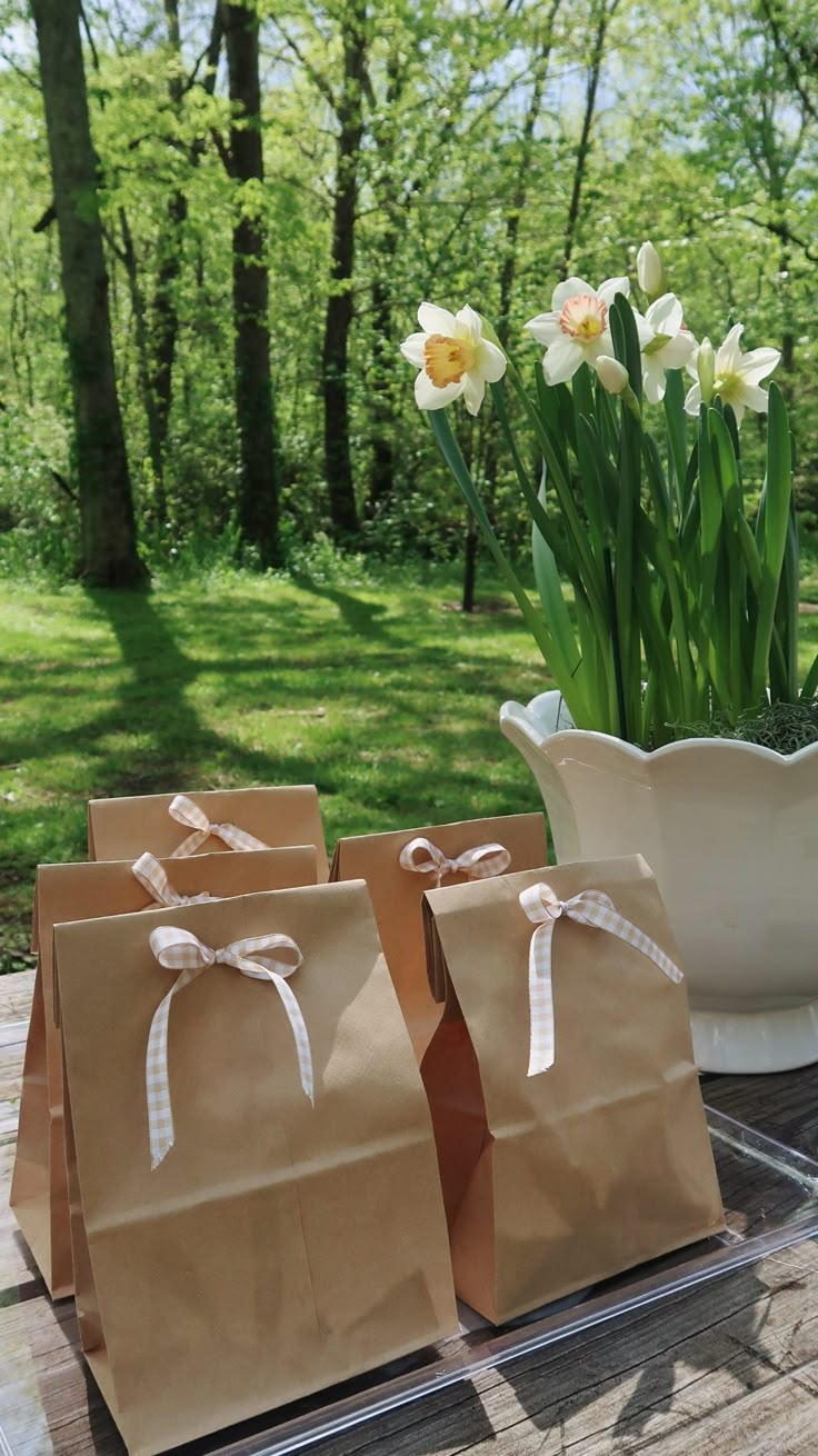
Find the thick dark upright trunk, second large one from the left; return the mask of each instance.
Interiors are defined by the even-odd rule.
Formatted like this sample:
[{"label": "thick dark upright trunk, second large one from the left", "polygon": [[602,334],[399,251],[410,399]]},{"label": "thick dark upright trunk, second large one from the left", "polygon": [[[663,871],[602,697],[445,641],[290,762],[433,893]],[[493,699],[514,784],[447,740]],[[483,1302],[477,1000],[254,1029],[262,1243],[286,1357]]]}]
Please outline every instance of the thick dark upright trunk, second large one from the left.
[{"label": "thick dark upright trunk, second large one from the left", "polygon": [[[242,4],[226,4],[221,15],[233,105],[231,170],[243,189],[256,183],[261,191],[259,20],[255,10]],[[245,540],[271,565],[278,559],[281,451],[269,368],[269,281],[261,204],[249,186],[242,202],[233,229],[233,364],[242,450],[239,524]]]}]

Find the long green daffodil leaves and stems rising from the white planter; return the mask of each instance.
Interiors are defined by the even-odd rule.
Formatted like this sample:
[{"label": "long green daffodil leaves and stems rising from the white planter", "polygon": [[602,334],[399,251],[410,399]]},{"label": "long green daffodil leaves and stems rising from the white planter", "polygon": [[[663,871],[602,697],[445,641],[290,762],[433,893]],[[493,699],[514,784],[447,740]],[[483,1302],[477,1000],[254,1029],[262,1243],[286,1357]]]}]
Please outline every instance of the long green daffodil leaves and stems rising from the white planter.
[{"label": "long green daffodil leaves and stems rising from the white planter", "polygon": [[531,514],[540,612],[492,530],[447,411],[429,419],[576,727],[652,748],[678,722],[723,716],[735,725],[767,697],[773,705],[811,699],[818,655],[801,686],[799,546],[779,387],[769,390],[764,483],[751,529],[729,405],[718,396],[713,408],[703,403],[688,440],[684,387],[671,371],[662,451],[640,399],[636,316],[622,293],[610,326],[630,377],[619,409],[588,364],[571,387],[549,387],[537,368],[534,399],[509,360],[508,379],[543,454],[539,492],[521,460],[504,386],[492,386]]}]

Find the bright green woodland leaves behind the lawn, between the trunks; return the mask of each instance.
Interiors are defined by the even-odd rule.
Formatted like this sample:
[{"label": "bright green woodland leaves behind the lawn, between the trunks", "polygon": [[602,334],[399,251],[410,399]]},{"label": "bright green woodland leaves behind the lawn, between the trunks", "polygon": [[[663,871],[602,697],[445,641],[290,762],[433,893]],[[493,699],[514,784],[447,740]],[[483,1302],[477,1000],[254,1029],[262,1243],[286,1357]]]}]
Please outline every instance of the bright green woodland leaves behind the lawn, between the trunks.
[{"label": "bright green woodland leaves behind the lawn, between the trunks", "polygon": [[[341,83],[345,3],[258,6],[268,182],[263,191],[245,189],[239,201],[263,217],[268,234],[287,549],[329,523],[320,355],[332,287],[338,116],[330,102]],[[774,3],[785,36],[798,39],[814,25],[805,0]],[[13,61],[0,61],[0,536],[15,534],[0,546],[0,561],[12,569],[42,542],[57,569],[61,540],[70,572],[76,513],[49,476],[54,467],[77,489],[58,249],[52,224],[33,232],[51,201],[48,153],[26,4],[3,0],[0,10]],[[143,550],[157,562],[163,498],[175,540],[208,531],[221,539],[237,498],[230,312],[236,183],[220,156],[229,131],[224,67],[208,95],[202,57],[211,4],[179,0],[180,54],[169,44],[164,10],[160,0],[84,4],[119,397]],[[370,4],[348,384],[361,545],[386,559],[461,552],[461,498],[434,443],[418,430],[412,373],[397,345],[415,328],[426,291],[435,301],[470,301],[498,317],[509,259],[509,339],[520,339],[525,319],[549,306],[565,252],[597,10],[598,0]],[[544,77],[541,105],[527,151],[537,76]],[[605,42],[571,269],[592,281],[626,271],[649,220],[654,242],[671,245],[664,249],[668,285],[684,298],[697,335],[710,328],[720,338],[731,317],[753,317],[748,348],[785,348],[780,380],[806,529],[818,518],[817,163],[818,122],[760,7],[736,12],[728,0],[713,0],[706,12],[688,13],[665,0],[651,7],[620,0]],[[525,197],[517,210],[521,166]],[[179,336],[159,482],[144,374],[160,336],[156,300],[175,242],[169,202],[178,192],[186,199],[180,266],[170,285]],[[515,428],[528,463],[537,451],[534,431],[517,419]],[[488,415],[458,421],[456,434],[485,486],[498,536],[512,558],[525,553],[525,510],[514,467],[498,448],[496,424]],[[392,483],[371,501],[378,441],[390,448]],[[742,448],[747,479],[760,482],[763,431],[745,427]],[[755,504],[751,495],[750,510]]]}]

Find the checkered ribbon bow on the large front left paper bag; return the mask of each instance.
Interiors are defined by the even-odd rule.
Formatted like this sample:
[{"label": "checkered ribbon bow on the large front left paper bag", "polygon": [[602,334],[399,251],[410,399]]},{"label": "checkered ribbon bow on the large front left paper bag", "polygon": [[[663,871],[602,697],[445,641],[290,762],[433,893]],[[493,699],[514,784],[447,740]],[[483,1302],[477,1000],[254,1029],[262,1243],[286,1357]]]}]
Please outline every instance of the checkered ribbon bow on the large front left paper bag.
[{"label": "checkered ribbon bow on the large front left paper bag", "polygon": [[[288,935],[253,935],[246,941],[234,941],[223,951],[211,951],[208,945],[191,930],[180,930],[179,926],[162,926],[150,933],[150,948],[160,965],[169,971],[180,971],[164,1000],[154,1012],[147,1042],[147,1118],[150,1130],[150,1163],[159,1168],[162,1159],[173,1147],[173,1112],[170,1109],[170,1082],[167,1076],[167,1018],[170,1002],[176,992],[183,990],[191,981],[201,976],[208,965],[234,965],[242,976],[250,976],[258,981],[272,981],[293,1028],[295,1051],[298,1054],[298,1070],[301,1086],[314,1102],[313,1091],[313,1057],[310,1038],[301,1015],[301,1008],[290,990],[285,977],[297,971],[304,957],[295,941]],[[269,951],[291,951],[295,955],[293,962],[279,961],[269,955]]]}]

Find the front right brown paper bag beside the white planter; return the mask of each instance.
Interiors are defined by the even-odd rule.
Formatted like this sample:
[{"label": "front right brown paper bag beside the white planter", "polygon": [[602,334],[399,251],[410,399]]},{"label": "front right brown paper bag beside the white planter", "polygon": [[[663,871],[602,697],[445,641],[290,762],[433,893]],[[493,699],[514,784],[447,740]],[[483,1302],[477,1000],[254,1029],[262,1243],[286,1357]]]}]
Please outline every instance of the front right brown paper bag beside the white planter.
[{"label": "front right brown paper bag beside the white planter", "polygon": [[[495,1322],[723,1227],[684,981],[611,930],[560,914],[555,1063],[527,1075],[537,926],[520,894],[541,882],[557,901],[605,893],[677,961],[639,856],[428,893],[429,971],[445,1012],[421,1072],[454,1284]],[[534,994],[537,1031],[547,1021],[540,977]]]}]

